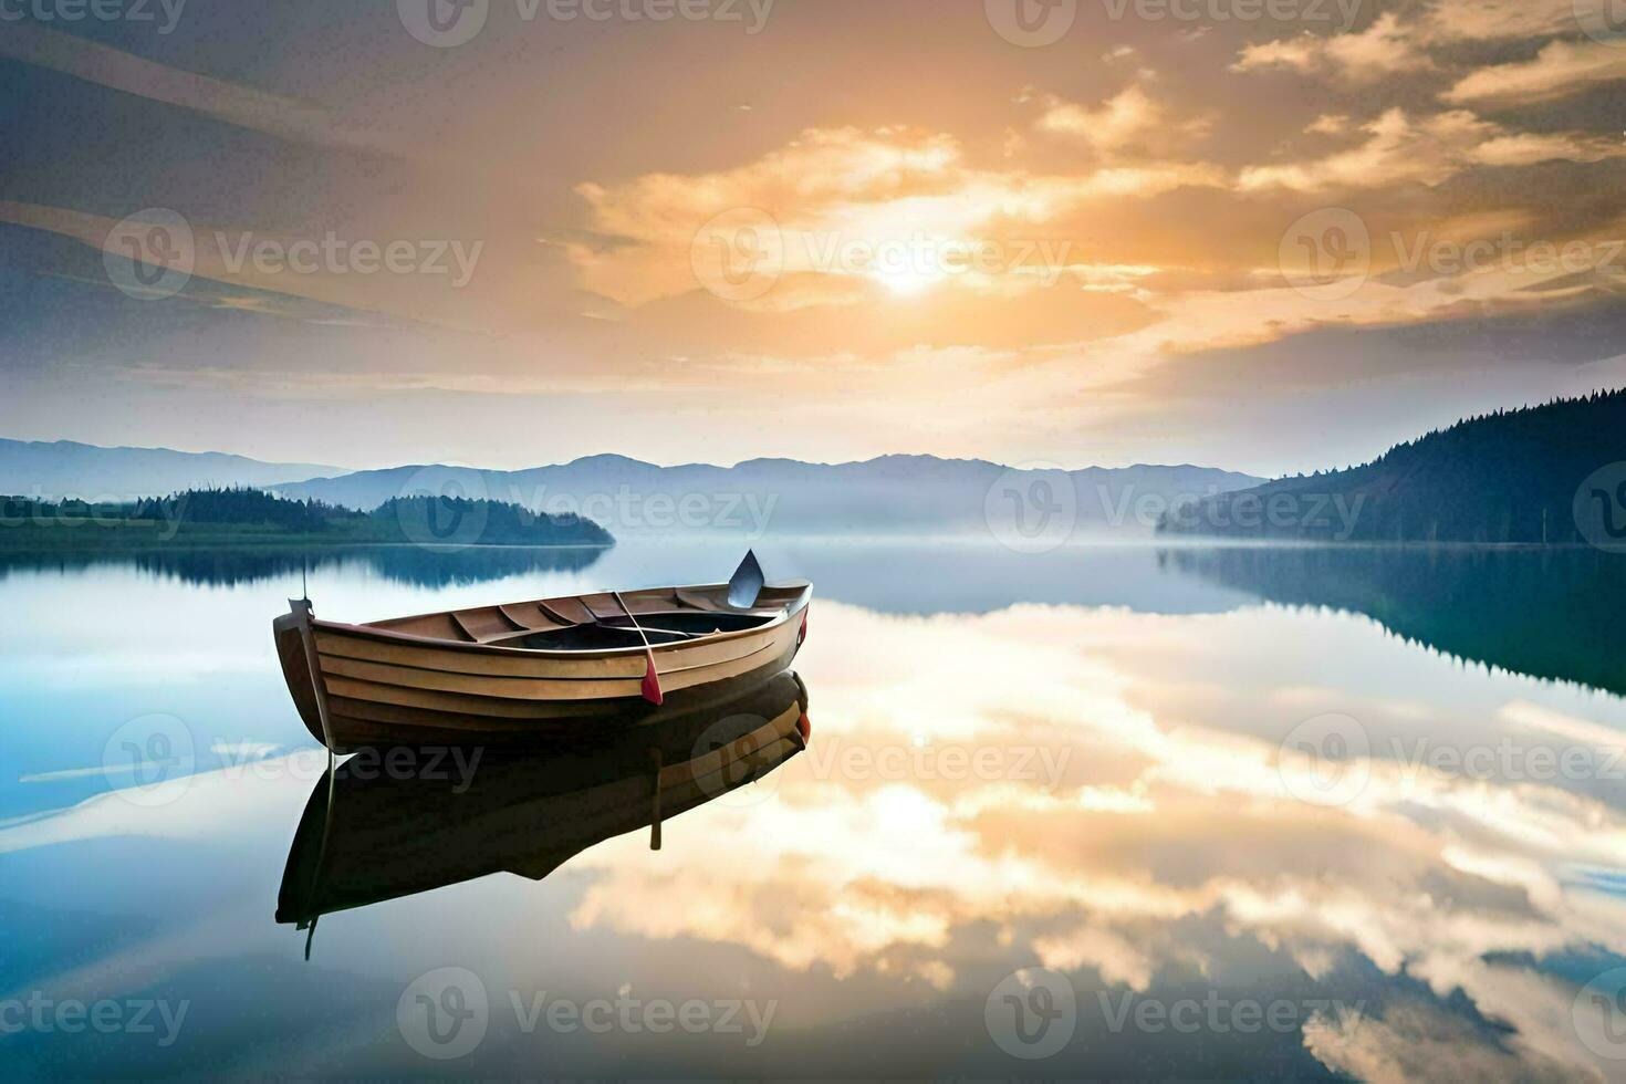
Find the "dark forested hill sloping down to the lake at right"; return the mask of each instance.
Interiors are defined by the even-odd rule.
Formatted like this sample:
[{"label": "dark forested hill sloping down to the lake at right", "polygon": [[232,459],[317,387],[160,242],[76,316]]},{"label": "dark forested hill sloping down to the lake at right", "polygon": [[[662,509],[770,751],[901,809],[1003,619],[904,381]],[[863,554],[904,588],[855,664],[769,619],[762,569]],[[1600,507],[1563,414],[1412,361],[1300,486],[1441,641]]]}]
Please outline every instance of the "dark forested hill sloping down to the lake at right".
[{"label": "dark forested hill sloping down to the lake at right", "polygon": [[1190,502],[1158,530],[1626,549],[1626,390],[1462,421],[1364,466]]}]

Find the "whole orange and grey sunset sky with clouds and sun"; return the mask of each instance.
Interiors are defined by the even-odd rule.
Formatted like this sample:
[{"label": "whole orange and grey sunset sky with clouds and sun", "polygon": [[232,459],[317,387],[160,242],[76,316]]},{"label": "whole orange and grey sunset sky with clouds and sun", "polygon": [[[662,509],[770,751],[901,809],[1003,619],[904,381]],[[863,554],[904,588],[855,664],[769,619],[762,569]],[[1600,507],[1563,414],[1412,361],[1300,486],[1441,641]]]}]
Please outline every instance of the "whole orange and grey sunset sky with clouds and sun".
[{"label": "whole orange and grey sunset sky with clouds and sun", "polygon": [[0,3],[0,436],[1283,473],[1626,384],[1610,0],[429,2]]}]

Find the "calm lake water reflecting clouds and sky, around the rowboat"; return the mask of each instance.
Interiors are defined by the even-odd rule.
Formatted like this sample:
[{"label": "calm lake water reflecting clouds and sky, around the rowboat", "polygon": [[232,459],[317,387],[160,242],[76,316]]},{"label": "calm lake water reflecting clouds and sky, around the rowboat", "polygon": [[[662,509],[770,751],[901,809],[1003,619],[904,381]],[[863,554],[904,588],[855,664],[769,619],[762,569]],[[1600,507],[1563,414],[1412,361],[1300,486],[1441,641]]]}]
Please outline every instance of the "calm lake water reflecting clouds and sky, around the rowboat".
[{"label": "calm lake water reflecting clouds and sky, around the rowboat", "polygon": [[[806,752],[659,853],[330,913],[309,962],[299,559],[0,557],[3,1074],[1626,1079],[1626,559],[759,554],[818,587]],[[353,551],[309,592],[738,557]]]}]

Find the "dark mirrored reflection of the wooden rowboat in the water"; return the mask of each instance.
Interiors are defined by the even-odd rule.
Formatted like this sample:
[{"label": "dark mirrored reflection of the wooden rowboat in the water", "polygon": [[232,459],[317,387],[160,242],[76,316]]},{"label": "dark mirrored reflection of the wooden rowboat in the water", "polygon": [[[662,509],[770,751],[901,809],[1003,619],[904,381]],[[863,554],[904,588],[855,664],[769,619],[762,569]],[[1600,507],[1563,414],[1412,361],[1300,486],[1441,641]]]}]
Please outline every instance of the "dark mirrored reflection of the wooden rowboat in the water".
[{"label": "dark mirrored reflection of the wooden rowboat in the water", "polygon": [[[317,782],[276,921],[416,895],[493,873],[541,881],[580,852],[754,783],[806,746],[792,671],[662,709],[592,748],[389,749]],[[306,947],[309,956],[309,943]]]}]

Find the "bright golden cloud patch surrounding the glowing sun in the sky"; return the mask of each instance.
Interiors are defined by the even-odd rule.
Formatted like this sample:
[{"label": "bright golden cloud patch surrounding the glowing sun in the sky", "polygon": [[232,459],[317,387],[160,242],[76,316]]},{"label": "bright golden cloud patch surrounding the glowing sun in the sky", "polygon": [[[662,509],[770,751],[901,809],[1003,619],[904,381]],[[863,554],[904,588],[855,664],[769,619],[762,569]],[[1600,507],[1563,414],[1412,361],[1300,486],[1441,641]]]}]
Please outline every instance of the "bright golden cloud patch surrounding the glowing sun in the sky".
[{"label": "bright golden cloud patch surrounding the glowing sun in the sky", "polygon": [[[1143,130],[1153,107],[1130,96],[1115,111],[1106,138],[1114,146]],[[1055,284],[1072,267],[1075,237],[1059,223],[1080,208],[1226,182],[1205,163],[1130,159],[1039,174],[972,166],[943,133],[808,130],[719,172],[577,185],[592,231],[633,244],[566,241],[566,252],[585,289],[629,307],[717,286],[701,268],[707,260],[766,276],[763,291],[717,291],[756,310],[862,304],[875,284],[914,294],[953,280],[1011,293]]]}]

